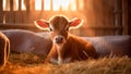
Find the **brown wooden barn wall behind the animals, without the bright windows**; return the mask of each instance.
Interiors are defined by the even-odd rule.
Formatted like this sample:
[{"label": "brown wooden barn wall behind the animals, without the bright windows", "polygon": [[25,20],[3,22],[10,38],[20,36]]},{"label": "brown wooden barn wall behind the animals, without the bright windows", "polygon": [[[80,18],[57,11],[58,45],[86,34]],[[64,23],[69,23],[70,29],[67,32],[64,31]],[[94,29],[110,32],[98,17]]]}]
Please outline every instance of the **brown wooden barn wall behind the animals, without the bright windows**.
[{"label": "brown wooden barn wall behind the animals, without the bright windows", "polygon": [[[10,0],[10,11],[3,11],[2,0],[0,0],[0,29],[22,28],[38,30],[34,26],[35,20],[49,20],[53,14],[66,14],[69,18],[84,18],[84,24],[71,33],[79,36],[105,36],[123,35],[128,26],[126,20],[126,7],[122,3],[126,0],[84,0],[84,10],[81,11],[36,11],[35,0],[25,0],[26,10],[21,10],[21,0],[19,11],[13,11],[13,0]],[[44,3],[43,3],[44,4]],[[124,12],[124,14],[123,14]],[[3,21],[4,18],[4,21]],[[124,27],[124,28],[123,28]]]}]

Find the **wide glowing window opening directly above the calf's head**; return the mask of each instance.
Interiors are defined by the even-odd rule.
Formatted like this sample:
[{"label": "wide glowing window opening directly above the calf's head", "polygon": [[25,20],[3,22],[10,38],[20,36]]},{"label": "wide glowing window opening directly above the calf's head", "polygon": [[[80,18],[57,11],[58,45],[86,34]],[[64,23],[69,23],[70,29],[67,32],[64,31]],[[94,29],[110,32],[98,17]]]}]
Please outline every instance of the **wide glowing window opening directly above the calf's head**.
[{"label": "wide glowing window opening directly above the calf's head", "polygon": [[41,7],[45,11],[76,11],[83,9],[84,2],[83,0],[35,0],[35,10],[41,10]]}]

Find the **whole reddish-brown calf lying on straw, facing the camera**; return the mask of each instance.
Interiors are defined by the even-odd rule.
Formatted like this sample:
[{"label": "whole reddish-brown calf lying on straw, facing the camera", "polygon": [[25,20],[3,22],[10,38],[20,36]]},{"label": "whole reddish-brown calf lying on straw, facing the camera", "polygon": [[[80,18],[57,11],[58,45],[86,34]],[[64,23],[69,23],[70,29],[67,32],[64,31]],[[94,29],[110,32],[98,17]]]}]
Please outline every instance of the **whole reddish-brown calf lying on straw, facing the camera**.
[{"label": "whole reddish-brown calf lying on straw, facing the camera", "polygon": [[46,59],[46,62],[62,64],[68,62],[96,59],[97,53],[93,45],[78,36],[69,34],[69,29],[79,27],[82,20],[74,18],[69,21],[63,15],[52,16],[49,22],[40,20],[35,22],[41,29],[50,29],[52,48]]}]

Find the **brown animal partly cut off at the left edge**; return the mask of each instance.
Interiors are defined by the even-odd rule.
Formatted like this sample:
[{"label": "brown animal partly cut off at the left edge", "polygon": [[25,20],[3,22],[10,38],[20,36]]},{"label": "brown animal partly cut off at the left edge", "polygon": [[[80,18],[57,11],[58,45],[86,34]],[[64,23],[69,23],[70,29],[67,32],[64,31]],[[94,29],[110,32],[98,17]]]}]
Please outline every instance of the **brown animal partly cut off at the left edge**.
[{"label": "brown animal partly cut off at the left edge", "polygon": [[5,65],[10,53],[10,41],[0,33],[0,70]]}]

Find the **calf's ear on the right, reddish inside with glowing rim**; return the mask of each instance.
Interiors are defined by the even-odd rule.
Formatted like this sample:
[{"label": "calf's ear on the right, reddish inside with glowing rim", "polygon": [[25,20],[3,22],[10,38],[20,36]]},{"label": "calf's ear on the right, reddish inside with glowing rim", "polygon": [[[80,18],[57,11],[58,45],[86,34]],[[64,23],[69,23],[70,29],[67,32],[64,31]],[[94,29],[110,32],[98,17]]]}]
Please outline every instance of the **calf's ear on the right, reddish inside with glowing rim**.
[{"label": "calf's ear on the right, reddish inside with glowing rim", "polygon": [[70,23],[71,28],[79,28],[83,24],[82,18],[73,18]]}]

